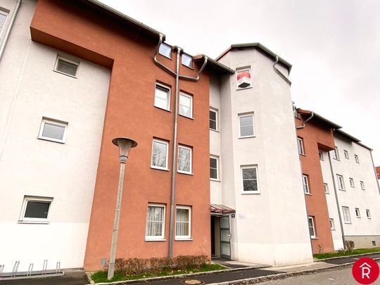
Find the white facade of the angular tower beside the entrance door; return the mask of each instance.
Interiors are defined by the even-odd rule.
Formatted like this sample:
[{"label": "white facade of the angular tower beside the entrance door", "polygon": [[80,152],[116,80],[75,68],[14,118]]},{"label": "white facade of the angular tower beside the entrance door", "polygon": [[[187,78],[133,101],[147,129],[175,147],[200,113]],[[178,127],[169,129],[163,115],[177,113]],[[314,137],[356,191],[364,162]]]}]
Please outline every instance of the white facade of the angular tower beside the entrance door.
[{"label": "white facade of the angular tower beside the entrance door", "polygon": [[[220,156],[221,165],[221,182],[210,182],[211,203],[236,210],[231,257],[270,265],[312,262],[289,84],[256,49],[229,51],[220,63],[251,72],[250,88],[238,89],[236,74],[220,84],[212,80],[210,87],[210,107],[220,118],[219,132],[210,130],[210,153]],[[242,114],[253,115],[251,136],[239,134]],[[243,192],[246,166],[258,174],[254,193]]]}]

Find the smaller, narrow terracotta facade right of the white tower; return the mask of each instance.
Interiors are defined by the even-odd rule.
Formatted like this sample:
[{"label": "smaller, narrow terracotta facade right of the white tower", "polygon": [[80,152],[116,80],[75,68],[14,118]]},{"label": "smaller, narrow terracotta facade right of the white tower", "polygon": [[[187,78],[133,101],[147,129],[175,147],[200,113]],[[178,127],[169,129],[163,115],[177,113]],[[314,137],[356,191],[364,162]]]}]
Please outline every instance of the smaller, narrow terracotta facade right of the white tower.
[{"label": "smaller, narrow terracotta facade right of the white tower", "polygon": [[[323,252],[334,251],[334,243],[329,224],[329,210],[327,208],[326,194],[324,193],[324,181],[322,169],[319,163],[319,149],[331,151],[335,148],[333,130],[324,120],[311,118],[310,111],[298,109],[296,118],[297,135],[303,140],[304,155],[300,154],[300,163],[303,175],[308,176],[310,194],[305,194],[308,216],[314,218],[315,239],[312,241],[313,253],[319,253],[323,246]],[[300,128],[303,126],[303,128]]]}]

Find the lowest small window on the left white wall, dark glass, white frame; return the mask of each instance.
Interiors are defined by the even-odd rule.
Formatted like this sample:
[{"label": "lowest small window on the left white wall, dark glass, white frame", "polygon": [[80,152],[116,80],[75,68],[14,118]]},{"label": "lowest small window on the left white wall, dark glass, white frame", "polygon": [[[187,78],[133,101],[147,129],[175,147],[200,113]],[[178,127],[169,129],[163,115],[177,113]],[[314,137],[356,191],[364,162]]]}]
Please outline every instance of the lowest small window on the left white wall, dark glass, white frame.
[{"label": "lowest small window on the left white wall, dark glass, white frame", "polygon": [[24,196],[19,222],[49,222],[53,198]]}]

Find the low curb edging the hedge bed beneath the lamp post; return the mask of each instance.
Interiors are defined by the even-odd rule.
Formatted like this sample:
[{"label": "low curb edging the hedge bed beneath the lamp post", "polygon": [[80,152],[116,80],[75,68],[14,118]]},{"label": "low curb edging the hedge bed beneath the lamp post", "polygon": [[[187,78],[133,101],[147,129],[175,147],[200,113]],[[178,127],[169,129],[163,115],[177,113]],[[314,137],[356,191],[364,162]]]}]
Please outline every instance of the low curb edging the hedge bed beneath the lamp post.
[{"label": "low curb edging the hedge bed beneath the lamp post", "polygon": [[201,276],[201,275],[203,276],[203,275],[209,275],[209,274],[219,274],[219,273],[224,273],[224,272],[235,272],[235,271],[243,271],[243,270],[262,269],[262,268],[267,268],[267,267],[271,267],[271,266],[270,265],[259,265],[259,266],[232,268],[232,269],[226,269],[226,270],[214,270],[214,271],[208,271],[208,272],[196,272],[196,273],[188,273],[188,274],[167,275],[167,276],[144,278],[144,279],[133,279],[133,280],[101,282],[101,283],[95,283],[91,279],[91,273],[90,272],[86,272],[86,275],[87,275],[87,279],[89,280],[90,284],[99,284],[99,285],[130,284],[130,283],[143,283],[143,282],[150,282],[150,281],[163,281],[163,280],[170,280],[170,279],[184,279],[186,277],[195,277],[195,276]]}]

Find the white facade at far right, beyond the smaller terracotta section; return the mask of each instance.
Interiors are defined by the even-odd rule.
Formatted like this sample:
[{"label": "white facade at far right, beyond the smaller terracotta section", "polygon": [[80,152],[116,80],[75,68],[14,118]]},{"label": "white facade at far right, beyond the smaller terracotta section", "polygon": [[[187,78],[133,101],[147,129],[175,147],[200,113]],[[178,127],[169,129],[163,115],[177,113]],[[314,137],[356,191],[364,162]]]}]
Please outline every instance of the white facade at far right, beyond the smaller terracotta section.
[{"label": "white facade at far right, beyond the smaller terracotta section", "polygon": [[[346,240],[354,241],[356,248],[379,246],[380,194],[371,151],[337,132],[334,133],[334,140],[339,153],[338,160],[334,159],[332,152],[330,153],[334,175],[331,174],[329,160],[321,162],[324,182],[329,184],[330,189],[330,194],[327,194],[329,216],[334,218],[336,228],[332,232],[334,248],[343,248],[338,209]],[[344,187],[339,186],[337,175],[343,177]],[[332,179],[335,179],[338,205]],[[346,213],[343,213],[343,207],[348,208],[348,211],[345,210]]]}]

